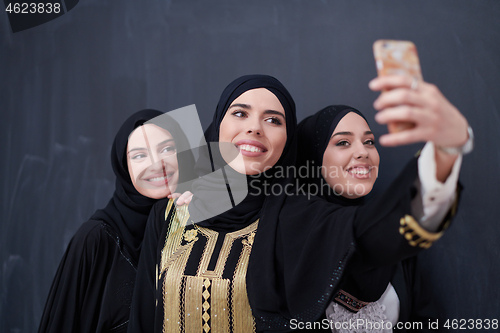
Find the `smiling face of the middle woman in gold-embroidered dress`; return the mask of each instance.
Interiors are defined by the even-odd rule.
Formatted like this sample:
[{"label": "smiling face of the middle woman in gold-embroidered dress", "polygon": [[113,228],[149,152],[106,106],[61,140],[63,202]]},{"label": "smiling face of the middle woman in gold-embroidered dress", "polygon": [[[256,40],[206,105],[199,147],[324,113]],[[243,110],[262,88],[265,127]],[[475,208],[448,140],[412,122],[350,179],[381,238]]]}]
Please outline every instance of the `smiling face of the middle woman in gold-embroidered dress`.
[{"label": "smiling face of the middle woman in gold-embroidered dress", "polygon": [[233,159],[221,149],[224,160],[239,173],[256,175],[273,167],[286,144],[285,110],[278,98],[265,88],[238,96],[222,119],[219,141],[239,150]]}]

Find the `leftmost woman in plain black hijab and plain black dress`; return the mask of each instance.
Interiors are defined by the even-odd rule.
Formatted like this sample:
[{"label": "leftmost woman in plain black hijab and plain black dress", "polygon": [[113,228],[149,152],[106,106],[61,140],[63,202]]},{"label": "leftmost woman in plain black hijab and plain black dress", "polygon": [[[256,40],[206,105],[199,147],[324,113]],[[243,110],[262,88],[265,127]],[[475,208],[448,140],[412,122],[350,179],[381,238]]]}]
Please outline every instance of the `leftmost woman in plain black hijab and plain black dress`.
[{"label": "leftmost woman in plain black hijab and plain black dress", "polygon": [[[151,123],[152,119],[161,127]],[[183,159],[188,163],[178,165],[177,151],[191,153],[184,133],[168,115],[147,109],[124,122],[111,149],[116,176],[113,197],[82,224],[69,243],[52,283],[39,332],[127,330],[151,207],[192,177],[192,155],[190,161]],[[153,155],[162,160],[151,164]]]}]

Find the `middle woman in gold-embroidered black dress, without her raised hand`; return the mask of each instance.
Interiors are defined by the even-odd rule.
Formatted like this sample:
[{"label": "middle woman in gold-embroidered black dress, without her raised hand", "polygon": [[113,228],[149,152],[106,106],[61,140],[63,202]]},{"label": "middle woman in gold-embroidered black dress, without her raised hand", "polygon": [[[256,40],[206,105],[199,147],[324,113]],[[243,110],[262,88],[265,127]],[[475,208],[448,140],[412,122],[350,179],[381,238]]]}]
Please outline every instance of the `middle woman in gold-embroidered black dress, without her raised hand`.
[{"label": "middle woman in gold-embroidered black dress, without her raised hand", "polygon": [[[411,217],[403,221],[415,237],[399,233],[401,218],[411,213],[416,164],[396,183],[397,200],[383,209],[297,195],[289,173],[295,128],[293,99],[275,78],[243,76],[226,87],[205,135],[207,142],[230,143],[240,154],[228,158],[224,149],[212,147],[211,161],[222,155],[227,164],[208,163],[213,174],[221,170],[223,186],[204,171],[189,207],[172,201],[153,207],[129,332],[291,330],[324,313],[356,248],[376,266],[424,248],[413,241],[432,243]],[[228,192],[232,196],[231,170],[246,175],[248,194],[219,213],[217,202],[225,204]],[[211,205],[197,198],[210,198]],[[380,234],[387,240],[382,246],[374,240]]]}]

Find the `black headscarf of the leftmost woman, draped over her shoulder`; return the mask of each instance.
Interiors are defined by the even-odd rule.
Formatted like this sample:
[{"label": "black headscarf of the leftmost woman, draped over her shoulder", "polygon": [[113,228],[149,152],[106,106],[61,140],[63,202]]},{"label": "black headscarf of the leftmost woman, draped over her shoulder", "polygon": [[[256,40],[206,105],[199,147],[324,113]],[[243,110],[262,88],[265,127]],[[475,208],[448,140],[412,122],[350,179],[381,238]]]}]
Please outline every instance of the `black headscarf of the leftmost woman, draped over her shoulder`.
[{"label": "black headscarf of the leftmost woman, draped over her shoulder", "polygon": [[[170,132],[177,149],[183,151],[184,154],[183,163],[179,165],[179,183],[185,181],[186,177],[191,177],[191,175],[188,175],[190,174],[189,163],[191,163],[192,169],[194,158],[192,155],[190,159],[186,158],[186,155],[191,154],[191,151],[189,150],[187,138],[180,129],[179,124],[168,115],[157,110],[138,111],[125,120],[118,130],[111,148],[111,166],[116,176],[113,197],[104,209],[97,210],[91,217],[93,220],[104,221],[118,233],[119,245],[135,261],[134,264],[137,264],[139,260],[140,246],[144,237],[149,211],[157,200],[143,196],[132,184],[127,166],[128,138],[134,129],[159,116],[162,116],[163,120],[159,125]],[[165,121],[164,117],[169,118],[168,121]]]}]

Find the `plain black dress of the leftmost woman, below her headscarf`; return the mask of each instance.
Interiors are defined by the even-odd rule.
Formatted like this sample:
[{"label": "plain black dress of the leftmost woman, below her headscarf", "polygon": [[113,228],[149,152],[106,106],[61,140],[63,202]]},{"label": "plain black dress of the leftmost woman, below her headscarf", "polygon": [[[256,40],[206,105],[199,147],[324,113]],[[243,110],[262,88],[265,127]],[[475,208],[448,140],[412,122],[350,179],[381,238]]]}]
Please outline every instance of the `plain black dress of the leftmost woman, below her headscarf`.
[{"label": "plain black dress of the leftmost woman, below her headscarf", "polygon": [[39,332],[126,332],[135,275],[115,230],[85,222],[61,260]]}]

